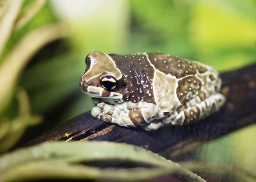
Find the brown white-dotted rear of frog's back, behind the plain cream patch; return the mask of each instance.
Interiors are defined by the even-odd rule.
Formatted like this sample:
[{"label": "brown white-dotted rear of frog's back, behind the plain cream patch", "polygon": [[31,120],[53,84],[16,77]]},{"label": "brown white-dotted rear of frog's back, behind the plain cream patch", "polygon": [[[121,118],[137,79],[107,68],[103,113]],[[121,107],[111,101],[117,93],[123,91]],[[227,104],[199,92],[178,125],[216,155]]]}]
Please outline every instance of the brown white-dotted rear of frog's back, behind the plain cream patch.
[{"label": "brown white-dotted rear of frog's back, behind the plain cream patch", "polygon": [[175,95],[181,104],[200,92],[208,97],[221,89],[221,78],[211,66],[162,53],[148,53],[147,57],[155,70],[177,81]]}]

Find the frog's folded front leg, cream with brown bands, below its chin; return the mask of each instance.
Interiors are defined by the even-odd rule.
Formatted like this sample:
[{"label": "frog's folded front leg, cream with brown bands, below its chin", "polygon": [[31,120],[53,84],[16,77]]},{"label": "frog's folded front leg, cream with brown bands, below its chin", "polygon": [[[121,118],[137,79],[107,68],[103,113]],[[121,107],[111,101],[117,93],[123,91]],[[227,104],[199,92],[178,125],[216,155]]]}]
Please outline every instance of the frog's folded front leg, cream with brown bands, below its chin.
[{"label": "frog's folded front leg, cream with brown bands, below its chin", "polygon": [[114,105],[100,102],[96,104],[91,113],[93,117],[108,123],[135,127],[150,123],[158,112],[158,107],[155,104],[147,102],[123,102]]}]

